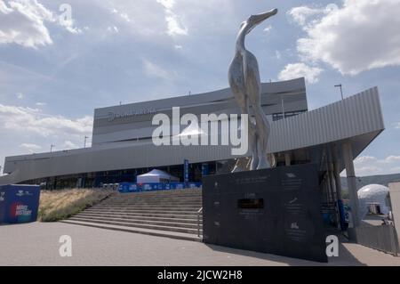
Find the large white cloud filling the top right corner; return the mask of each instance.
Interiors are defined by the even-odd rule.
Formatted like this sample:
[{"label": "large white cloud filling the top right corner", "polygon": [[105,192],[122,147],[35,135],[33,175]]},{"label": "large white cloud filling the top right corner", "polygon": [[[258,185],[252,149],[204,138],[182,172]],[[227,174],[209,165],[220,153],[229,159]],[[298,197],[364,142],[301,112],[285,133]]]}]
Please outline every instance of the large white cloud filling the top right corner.
[{"label": "large white cloud filling the top right corner", "polygon": [[324,61],[343,75],[400,65],[400,1],[344,0],[342,7],[293,8],[306,31],[298,41],[304,61]]}]

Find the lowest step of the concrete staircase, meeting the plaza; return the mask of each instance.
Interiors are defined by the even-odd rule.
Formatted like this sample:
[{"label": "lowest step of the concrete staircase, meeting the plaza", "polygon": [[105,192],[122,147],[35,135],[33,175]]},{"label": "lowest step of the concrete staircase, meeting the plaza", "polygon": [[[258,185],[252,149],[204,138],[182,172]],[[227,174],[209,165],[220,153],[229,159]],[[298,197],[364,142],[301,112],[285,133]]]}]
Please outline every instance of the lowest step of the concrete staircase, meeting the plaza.
[{"label": "lowest step of the concrete staircase, meeting the plaza", "polygon": [[132,227],[125,227],[125,226],[118,226],[118,225],[111,225],[111,224],[102,224],[102,223],[91,223],[91,222],[82,222],[82,221],[70,221],[65,220],[61,221],[62,223],[70,223],[76,224],[81,226],[88,226],[93,228],[100,228],[100,229],[107,229],[107,230],[114,230],[114,231],[126,231],[132,233],[140,233],[140,234],[147,234],[156,237],[164,237],[164,238],[172,238],[172,239],[185,239],[185,240],[193,240],[193,241],[203,241],[203,238],[197,237],[196,234],[188,234],[182,233],[177,231],[158,231],[158,230],[151,230],[151,229],[144,229],[144,228],[132,228]]}]

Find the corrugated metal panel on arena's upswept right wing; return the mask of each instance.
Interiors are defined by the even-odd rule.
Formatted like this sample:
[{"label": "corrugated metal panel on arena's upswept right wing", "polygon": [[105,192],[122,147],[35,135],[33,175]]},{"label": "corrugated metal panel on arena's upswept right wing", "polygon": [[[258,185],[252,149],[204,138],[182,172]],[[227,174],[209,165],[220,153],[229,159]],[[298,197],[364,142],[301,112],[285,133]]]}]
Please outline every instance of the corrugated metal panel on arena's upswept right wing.
[{"label": "corrugated metal panel on arena's upswept right wing", "polygon": [[378,88],[271,126],[268,150],[279,152],[339,141],[384,129]]}]

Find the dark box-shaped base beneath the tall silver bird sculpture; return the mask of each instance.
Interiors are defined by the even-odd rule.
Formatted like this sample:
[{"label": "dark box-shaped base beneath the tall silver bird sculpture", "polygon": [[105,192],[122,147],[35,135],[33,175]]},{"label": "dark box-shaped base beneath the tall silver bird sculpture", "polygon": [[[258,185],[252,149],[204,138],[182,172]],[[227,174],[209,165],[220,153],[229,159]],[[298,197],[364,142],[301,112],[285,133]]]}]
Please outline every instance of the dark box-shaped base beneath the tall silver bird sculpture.
[{"label": "dark box-shaped base beneath the tall silver bird sculpture", "polygon": [[327,262],[316,165],[205,176],[204,242]]}]

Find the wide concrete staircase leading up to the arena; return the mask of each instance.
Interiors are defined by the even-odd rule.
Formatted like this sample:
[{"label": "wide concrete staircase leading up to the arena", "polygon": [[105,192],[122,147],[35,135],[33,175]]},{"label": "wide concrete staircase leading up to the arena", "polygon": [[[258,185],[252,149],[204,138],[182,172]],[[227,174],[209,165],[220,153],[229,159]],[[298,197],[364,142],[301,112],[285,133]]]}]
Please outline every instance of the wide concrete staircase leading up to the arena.
[{"label": "wide concrete staircase leading up to the arena", "polygon": [[197,220],[201,207],[202,191],[198,189],[117,193],[62,222],[202,241],[202,213],[199,225]]}]

